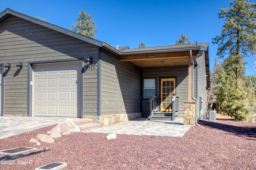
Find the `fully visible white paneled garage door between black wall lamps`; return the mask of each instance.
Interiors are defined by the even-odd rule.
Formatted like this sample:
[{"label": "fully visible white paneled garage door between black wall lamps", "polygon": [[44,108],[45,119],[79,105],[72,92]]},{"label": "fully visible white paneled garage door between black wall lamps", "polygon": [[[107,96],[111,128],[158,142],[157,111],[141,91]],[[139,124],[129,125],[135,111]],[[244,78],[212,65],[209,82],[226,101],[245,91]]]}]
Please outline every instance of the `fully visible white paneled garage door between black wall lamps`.
[{"label": "fully visible white paneled garage door between black wall lamps", "polygon": [[33,65],[34,116],[80,117],[80,63]]}]

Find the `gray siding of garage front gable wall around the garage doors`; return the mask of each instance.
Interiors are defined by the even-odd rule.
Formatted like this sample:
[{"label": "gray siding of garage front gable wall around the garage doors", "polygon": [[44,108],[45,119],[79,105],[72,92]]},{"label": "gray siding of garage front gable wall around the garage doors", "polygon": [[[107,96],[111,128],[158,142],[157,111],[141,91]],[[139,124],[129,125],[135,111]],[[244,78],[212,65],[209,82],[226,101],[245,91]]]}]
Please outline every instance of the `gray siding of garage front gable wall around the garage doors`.
[{"label": "gray siding of garage front gable wall around the garage doors", "polygon": [[[4,114],[28,115],[28,62],[82,62],[88,56],[93,58],[95,70],[83,73],[83,86],[90,89],[84,92],[83,107],[84,114],[94,114],[97,113],[98,47],[15,16],[2,21],[0,63],[12,63],[12,69],[4,73]],[[20,61],[24,62],[24,68],[18,72],[16,64]]]}]

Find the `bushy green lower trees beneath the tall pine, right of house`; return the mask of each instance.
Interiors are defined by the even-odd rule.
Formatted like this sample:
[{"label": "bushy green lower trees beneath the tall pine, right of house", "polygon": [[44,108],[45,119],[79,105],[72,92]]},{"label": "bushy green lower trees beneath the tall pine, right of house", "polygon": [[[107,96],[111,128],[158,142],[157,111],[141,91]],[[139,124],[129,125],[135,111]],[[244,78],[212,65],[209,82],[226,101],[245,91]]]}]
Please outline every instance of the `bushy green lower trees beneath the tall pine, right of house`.
[{"label": "bushy green lower trees beneath the tall pine, right of house", "polygon": [[232,62],[232,57],[228,57],[222,63],[214,65],[211,93],[215,95],[215,100],[212,100],[211,105],[217,107],[218,113],[235,117],[236,121],[252,122],[256,111],[256,77],[245,77],[240,70],[240,75],[244,76],[237,82]]}]

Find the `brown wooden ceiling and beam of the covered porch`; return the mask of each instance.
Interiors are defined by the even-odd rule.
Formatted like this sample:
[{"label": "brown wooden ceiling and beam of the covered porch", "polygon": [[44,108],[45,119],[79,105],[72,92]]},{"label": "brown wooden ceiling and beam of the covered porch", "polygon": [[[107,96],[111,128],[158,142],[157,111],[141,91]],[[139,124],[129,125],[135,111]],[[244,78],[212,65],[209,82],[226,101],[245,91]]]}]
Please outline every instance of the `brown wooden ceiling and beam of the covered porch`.
[{"label": "brown wooden ceiling and beam of the covered porch", "polygon": [[[192,55],[198,56],[199,51],[192,51]],[[141,68],[146,67],[162,67],[162,66],[185,66],[188,65],[188,52],[147,54],[147,55],[132,55],[121,56],[119,61],[130,61]]]}]

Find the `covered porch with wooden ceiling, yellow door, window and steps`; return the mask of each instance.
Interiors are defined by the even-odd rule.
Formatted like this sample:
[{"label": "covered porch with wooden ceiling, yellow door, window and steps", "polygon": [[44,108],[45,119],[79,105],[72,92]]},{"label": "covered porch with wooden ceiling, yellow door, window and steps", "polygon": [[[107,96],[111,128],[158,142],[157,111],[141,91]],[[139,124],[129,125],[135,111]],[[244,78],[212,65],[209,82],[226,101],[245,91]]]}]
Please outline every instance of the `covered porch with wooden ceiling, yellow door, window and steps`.
[{"label": "covered porch with wooden ceiling, yellow door, window and steps", "polygon": [[120,62],[128,61],[142,70],[142,117],[184,118],[185,103],[192,102],[192,84],[196,90],[195,58],[204,50],[202,44],[191,44],[122,51]]}]

